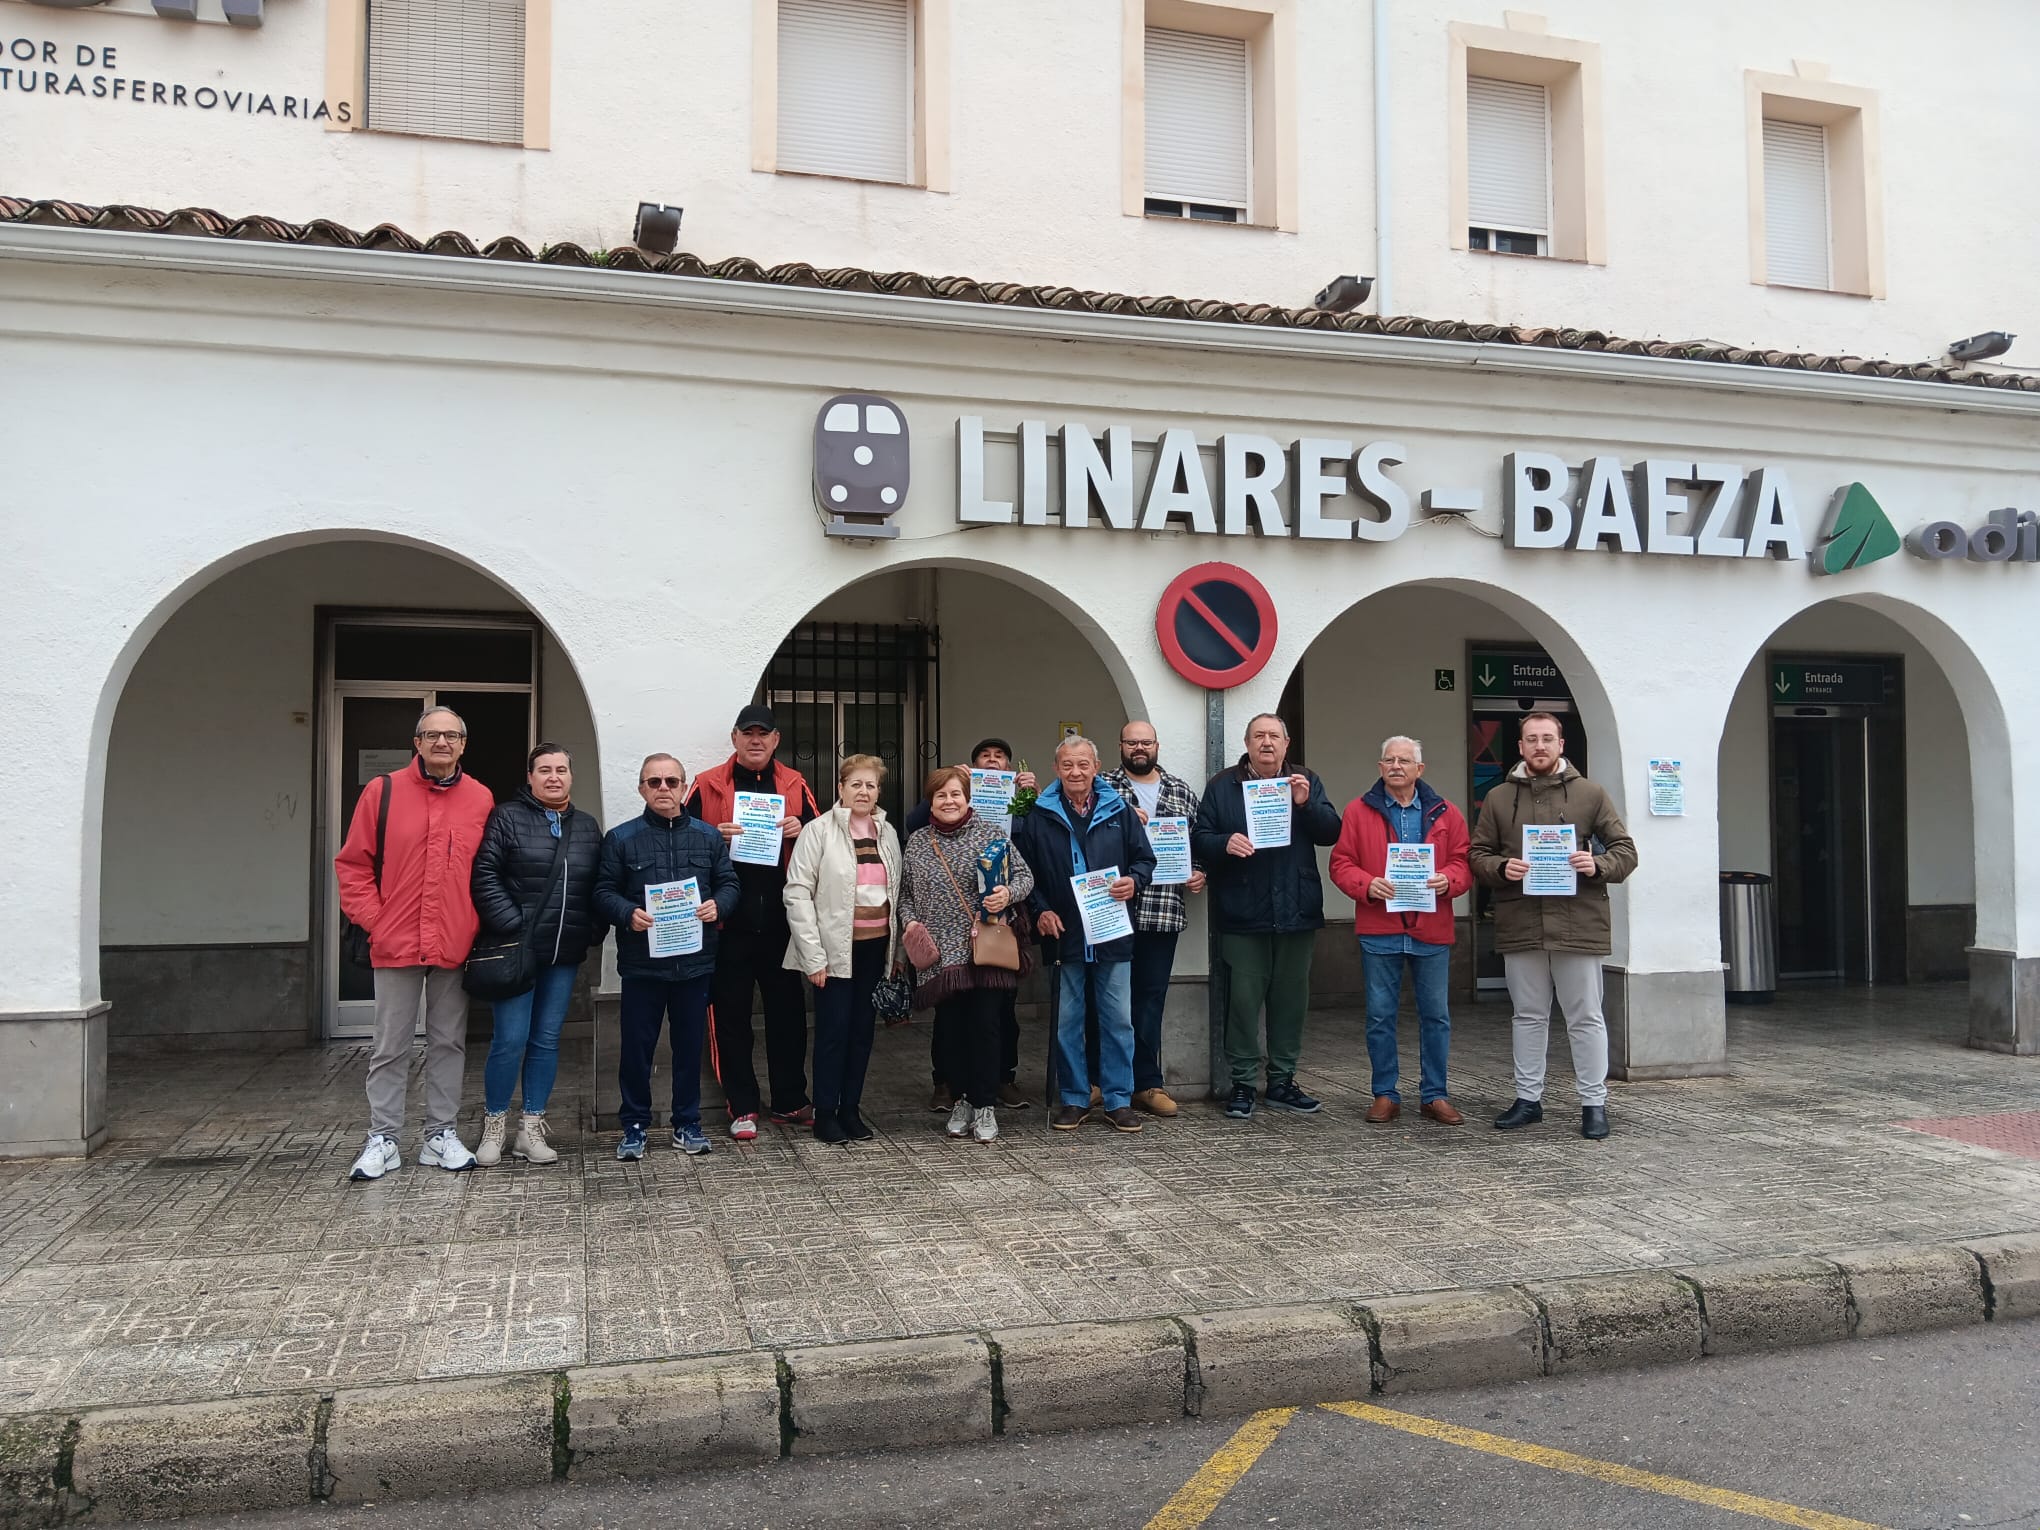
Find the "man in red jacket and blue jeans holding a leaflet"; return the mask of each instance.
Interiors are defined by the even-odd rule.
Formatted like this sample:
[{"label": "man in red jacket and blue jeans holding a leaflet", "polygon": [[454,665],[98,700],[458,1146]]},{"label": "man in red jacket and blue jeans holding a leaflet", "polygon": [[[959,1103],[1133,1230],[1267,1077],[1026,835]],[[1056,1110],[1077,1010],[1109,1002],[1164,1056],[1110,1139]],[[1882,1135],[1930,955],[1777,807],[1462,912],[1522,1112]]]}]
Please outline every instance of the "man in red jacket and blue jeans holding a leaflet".
[{"label": "man in red jacket and blue jeans holding a leaflet", "polygon": [[[1391,845],[1430,845],[1430,873],[1418,887],[1408,867],[1389,877]],[[1408,857],[1406,857],[1408,859]],[[1395,1012],[1401,1008],[1404,967],[1416,985],[1418,1057],[1422,1059],[1422,1114],[1440,1126],[1465,1122],[1444,1087],[1452,1047],[1446,1002],[1452,971],[1452,900],[1473,885],[1467,865],[1467,820],[1450,802],[1424,785],[1424,745],[1397,734],[1381,745],[1381,779],[1346,806],[1332,847],[1332,885],[1355,904],[1353,928],[1361,936],[1367,975],[1367,1057],[1375,1073],[1375,1104],[1367,1120],[1385,1126],[1401,1114],[1395,1059]],[[1412,898],[1412,894],[1416,894]],[[1430,902],[1430,910],[1399,904]]]}]

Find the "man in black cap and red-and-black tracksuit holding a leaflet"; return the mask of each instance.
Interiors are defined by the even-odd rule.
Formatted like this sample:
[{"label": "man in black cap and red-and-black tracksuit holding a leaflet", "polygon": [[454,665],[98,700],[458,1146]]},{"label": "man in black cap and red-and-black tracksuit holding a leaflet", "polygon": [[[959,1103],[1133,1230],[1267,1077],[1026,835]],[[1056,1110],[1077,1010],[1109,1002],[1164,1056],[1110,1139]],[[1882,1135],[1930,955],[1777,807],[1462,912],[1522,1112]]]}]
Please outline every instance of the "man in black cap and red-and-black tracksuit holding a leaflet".
[{"label": "man in black cap and red-and-black tracksuit holding a leaflet", "polygon": [[759,1134],[759,1075],[751,1065],[751,996],[765,1004],[765,1073],[771,1081],[771,1118],[810,1124],[808,1104],[808,996],[802,975],[785,967],[792,932],[785,924],[785,863],[794,855],[800,826],[820,808],[806,777],[775,759],[779,724],[769,708],[747,706],[730,730],[734,753],[694,777],[687,810],[736,843],[736,794],[771,792],[785,798],[779,824],[779,861],[751,865],[736,861],[741,896],[736,912],[722,926],[716,947],[716,979],[710,987],[714,1010],[714,1059],[722,1093],[730,1102],[730,1136],[749,1142]]}]

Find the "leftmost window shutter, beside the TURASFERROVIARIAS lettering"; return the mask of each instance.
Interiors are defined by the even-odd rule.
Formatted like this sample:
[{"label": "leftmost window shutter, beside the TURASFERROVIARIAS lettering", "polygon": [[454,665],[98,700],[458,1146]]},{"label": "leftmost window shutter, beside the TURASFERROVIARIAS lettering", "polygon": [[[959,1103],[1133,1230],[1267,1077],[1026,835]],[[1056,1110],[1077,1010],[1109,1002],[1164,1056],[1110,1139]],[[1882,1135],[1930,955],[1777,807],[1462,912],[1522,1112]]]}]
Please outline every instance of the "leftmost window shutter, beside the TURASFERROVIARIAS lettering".
[{"label": "leftmost window shutter, beside the TURASFERROVIARIAS lettering", "polygon": [[369,0],[379,133],[524,143],[524,0]]}]

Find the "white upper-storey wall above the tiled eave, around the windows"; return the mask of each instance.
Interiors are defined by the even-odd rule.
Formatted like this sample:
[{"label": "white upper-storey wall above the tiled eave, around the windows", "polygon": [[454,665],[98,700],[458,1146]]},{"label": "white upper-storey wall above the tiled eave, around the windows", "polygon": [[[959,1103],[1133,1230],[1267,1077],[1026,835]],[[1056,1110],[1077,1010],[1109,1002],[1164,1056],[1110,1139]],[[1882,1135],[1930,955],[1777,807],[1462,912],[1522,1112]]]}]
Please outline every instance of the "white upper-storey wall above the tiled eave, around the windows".
[{"label": "white upper-storey wall above the tiled eave, around the windows", "polygon": [[[0,0],[0,43],[112,45],[118,73],[320,96],[326,10],[275,0],[261,31],[63,12]],[[1375,271],[1371,6],[1295,0],[1295,233],[1130,218],[1120,194],[1120,4],[959,0],[951,43],[953,190],[751,169],[751,6],[555,4],[553,147],[526,151],[282,116],[131,106],[0,88],[8,190],[78,202],[314,216],[539,247],[630,241],[641,200],[685,206],[681,249],[1173,292],[1302,306],[1340,271]],[[2040,55],[2026,0],[1542,0],[1559,37],[1603,57],[1608,265],[1455,253],[1446,226],[1446,27],[1501,27],[1495,0],[1393,0],[1395,310],[1722,339],[1824,353],[1938,357],[1975,330],[2030,330],[2024,290],[2040,177],[2013,78],[1962,92],[1979,59]],[[1752,286],[1744,69],[1824,63],[1879,92],[1889,296]],[[92,71],[84,71],[88,78]]]}]

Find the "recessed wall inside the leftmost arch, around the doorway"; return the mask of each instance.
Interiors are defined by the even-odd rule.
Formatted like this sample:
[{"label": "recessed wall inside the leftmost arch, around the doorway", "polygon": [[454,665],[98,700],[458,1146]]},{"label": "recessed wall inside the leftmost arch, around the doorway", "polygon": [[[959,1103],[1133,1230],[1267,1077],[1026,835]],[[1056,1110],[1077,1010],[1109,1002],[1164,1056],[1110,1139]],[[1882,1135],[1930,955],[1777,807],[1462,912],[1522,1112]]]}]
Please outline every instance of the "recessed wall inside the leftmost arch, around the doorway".
[{"label": "recessed wall inside the leftmost arch, around the doorway", "polygon": [[[314,606],[514,610],[443,557],[373,543],[277,553],[222,575],[141,655],[106,757],[104,945],[304,940],[312,883]],[[583,771],[596,732],[559,647],[541,651],[541,732]]]}]

